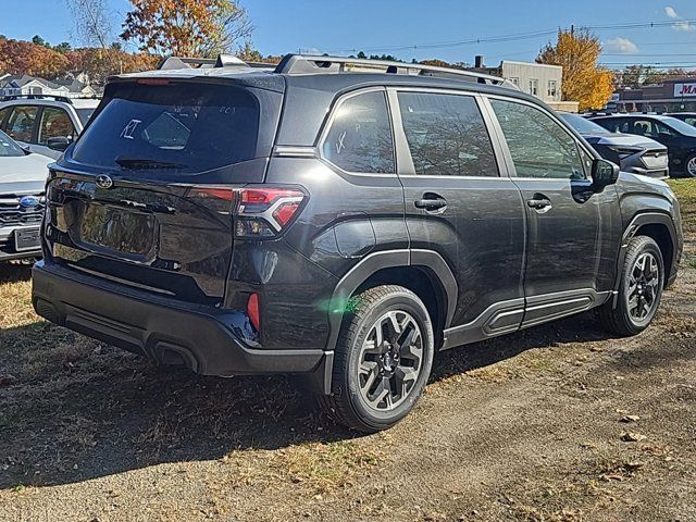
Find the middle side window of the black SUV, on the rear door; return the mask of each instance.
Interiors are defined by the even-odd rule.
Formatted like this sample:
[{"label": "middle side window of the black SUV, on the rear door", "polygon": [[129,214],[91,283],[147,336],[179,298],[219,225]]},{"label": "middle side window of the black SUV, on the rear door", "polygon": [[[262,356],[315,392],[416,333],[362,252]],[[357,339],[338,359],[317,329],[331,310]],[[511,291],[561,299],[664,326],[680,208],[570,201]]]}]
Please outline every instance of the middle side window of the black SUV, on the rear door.
[{"label": "middle side window of the black SUV, on the rear door", "polygon": [[428,92],[398,96],[415,174],[498,176],[490,138],[472,97]]}]

